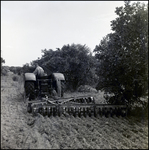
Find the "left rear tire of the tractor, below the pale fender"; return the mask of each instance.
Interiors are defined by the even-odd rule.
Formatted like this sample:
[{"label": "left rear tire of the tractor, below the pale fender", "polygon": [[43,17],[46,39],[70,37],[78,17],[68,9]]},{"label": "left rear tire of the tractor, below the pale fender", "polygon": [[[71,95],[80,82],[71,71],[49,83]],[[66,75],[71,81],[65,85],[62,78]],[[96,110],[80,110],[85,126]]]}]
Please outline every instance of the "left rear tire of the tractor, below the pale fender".
[{"label": "left rear tire of the tractor, below the pale fender", "polygon": [[29,100],[35,99],[35,83],[25,82],[25,93]]}]

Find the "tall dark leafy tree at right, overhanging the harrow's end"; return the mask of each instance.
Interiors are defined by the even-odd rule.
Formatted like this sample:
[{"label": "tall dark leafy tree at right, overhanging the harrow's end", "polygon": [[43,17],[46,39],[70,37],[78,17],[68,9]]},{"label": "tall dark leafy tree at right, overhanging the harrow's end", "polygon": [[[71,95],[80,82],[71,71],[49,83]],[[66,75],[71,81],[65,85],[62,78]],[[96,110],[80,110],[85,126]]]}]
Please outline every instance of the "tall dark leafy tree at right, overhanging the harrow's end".
[{"label": "tall dark leafy tree at right, overhanging the harrow's end", "polygon": [[134,103],[148,92],[148,7],[139,2],[117,7],[113,33],[96,45],[97,89],[114,93],[110,103]]}]

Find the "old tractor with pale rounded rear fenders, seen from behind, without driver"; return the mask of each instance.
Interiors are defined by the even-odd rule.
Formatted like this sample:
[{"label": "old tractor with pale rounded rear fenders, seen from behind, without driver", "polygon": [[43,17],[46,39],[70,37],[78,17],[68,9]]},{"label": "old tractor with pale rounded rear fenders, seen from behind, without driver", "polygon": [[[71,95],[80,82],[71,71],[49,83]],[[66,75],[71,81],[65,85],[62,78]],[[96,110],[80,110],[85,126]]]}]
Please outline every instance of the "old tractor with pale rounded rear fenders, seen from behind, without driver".
[{"label": "old tractor with pale rounded rear fenders, seen from behind, without driver", "polygon": [[53,73],[40,78],[36,78],[33,73],[25,73],[24,77],[25,96],[29,100],[53,95],[63,97],[65,78],[62,73]]}]

